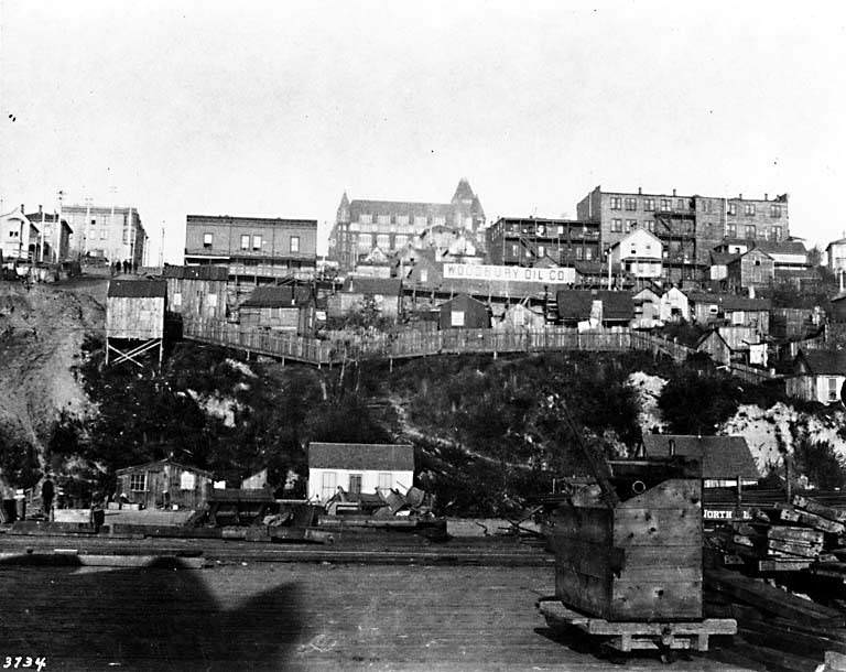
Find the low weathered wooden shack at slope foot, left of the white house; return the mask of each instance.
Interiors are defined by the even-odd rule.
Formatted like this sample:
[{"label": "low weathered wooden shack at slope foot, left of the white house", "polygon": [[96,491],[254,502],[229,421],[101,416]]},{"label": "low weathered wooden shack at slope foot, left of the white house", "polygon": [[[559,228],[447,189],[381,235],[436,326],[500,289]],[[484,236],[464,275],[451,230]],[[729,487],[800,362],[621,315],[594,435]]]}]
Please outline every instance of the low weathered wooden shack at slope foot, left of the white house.
[{"label": "low weathered wooden shack at slope foot, left of the white house", "polygon": [[118,469],[116,498],[147,509],[198,509],[206,502],[212,474],[170,458]]}]

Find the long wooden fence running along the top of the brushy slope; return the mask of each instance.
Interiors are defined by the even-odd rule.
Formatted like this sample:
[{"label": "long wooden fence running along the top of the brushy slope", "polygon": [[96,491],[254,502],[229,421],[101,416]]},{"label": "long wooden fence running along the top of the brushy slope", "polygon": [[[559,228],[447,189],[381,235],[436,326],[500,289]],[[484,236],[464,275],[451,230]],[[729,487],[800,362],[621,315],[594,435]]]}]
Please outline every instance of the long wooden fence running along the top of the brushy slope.
[{"label": "long wooden fence running along the top of the brushy slope", "polygon": [[245,328],[218,321],[186,321],[183,337],[248,354],[332,366],[361,359],[406,359],[435,355],[587,351],[626,353],[629,350],[663,354],[683,361],[695,350],[641,332],[612,329],[579,333],[565,327],[503,332],[499,329],[445,329],[401,332],[376,337],[322,340],[293,334]]}]

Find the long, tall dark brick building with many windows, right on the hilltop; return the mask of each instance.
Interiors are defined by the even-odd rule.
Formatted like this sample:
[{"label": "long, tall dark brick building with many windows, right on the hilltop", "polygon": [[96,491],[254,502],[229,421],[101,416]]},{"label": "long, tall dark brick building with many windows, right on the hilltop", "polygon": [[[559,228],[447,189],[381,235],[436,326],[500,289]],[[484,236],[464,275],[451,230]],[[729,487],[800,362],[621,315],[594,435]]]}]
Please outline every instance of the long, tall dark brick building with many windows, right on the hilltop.
[{"label": "long, tall dark brick building with many windows, right on the hilltop", "polygon": [[712,250],[728,238],[785,240],[788,195],[770,199],[605,192],[597,186],[577,206],[579,220],[599,225],[604,250],[641,227],[664,245],[664,278],[671,282],[707,277]]}]

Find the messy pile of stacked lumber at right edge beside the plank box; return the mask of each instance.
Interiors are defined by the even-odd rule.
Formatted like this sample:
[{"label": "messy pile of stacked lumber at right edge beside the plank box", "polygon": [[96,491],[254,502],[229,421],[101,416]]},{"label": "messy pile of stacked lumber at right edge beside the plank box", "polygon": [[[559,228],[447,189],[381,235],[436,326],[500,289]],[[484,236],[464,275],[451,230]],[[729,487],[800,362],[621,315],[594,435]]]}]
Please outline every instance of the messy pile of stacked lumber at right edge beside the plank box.
[{"label": "messy pile of stacked lumber at right edge beside the plank box", "polygon": [[846,581],[846,510],[796,496],[715,530],[712,543],[761,573],[824,572]]}]

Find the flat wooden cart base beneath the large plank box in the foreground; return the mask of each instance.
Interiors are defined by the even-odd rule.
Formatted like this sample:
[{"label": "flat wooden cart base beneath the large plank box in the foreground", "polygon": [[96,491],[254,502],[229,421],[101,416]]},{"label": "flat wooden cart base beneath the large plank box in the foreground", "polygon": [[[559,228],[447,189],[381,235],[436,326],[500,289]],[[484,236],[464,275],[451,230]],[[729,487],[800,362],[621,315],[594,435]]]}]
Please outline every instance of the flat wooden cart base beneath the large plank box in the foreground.
[{"label": "flat wooden cart base beneath the large plank box in the foreground", "polygon": [[574,611],[557,599],[541,599],[538,609],[551,627],[576,627],[587,635],[612,638],[612,648],[633,650],[692,649],[708,650],[712,635],[735,635],[737,621],[733,618],[705,618],[687,621],[610,621]]}]

